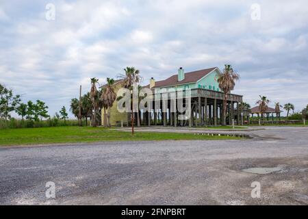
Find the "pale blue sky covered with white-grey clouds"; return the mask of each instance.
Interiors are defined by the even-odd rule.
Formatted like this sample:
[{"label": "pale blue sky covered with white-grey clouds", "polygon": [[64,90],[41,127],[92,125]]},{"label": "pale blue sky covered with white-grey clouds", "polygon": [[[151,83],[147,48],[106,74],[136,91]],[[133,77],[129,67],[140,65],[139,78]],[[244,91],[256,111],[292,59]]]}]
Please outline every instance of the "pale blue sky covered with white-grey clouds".
[{"label": "pale blue sky covered with white-grey clouds", "polygon": [[180,66],[229,63],[241,76],[233,92],[251,105],[259,94],[271,105],[308,104],[305,0],[1,0],[0,29],[0,83],[23,101],[45,101],[51,115],[80,84],[88,91],[90,77],[103,83],[125,66],[145,84]]}]

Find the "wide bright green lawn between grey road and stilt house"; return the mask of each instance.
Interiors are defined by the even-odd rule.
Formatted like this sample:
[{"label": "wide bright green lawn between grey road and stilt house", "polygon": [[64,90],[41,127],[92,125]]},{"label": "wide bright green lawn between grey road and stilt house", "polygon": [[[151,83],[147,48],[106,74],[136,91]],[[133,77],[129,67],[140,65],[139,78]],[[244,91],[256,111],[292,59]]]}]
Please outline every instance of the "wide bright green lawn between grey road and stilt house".
[{"label": "wide bright green lawn between grey road and stilt house", "polygon": [[202,136],[194,133],[130,132],[101,127],[43,127],[0,130],[0,146],[128,140],[238,140],[231,136]]}]

